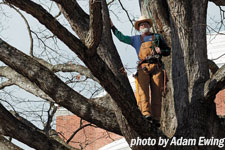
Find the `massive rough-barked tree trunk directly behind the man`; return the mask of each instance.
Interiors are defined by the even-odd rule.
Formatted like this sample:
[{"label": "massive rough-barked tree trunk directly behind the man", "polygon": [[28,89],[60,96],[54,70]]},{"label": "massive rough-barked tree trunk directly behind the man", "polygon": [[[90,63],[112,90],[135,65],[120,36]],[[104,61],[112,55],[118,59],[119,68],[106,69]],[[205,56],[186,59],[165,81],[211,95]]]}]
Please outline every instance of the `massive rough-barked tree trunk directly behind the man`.
[{"label": "massive rough-barked tree trunk directly behind the man", "polygon": [[[223,138],[224,128],[221,128],[213,102],[215,95],[207,100],[204,97],[204,86],[209,79],[206,46],[208,1],[140,0],[140,4],[142,13],[155,21],[156,30],[164,35],[168,43],[171,43],[170,39],[172,41],[172,62],[164,60],[170,88],[162,106],[164,133],[169,137],[192,138],[197,141],[199,137]],[[165,16],[168,14],[169,17]],[[164,17],[159,17],[163,15]],[[170,29],[163,30],[168,29],[167,27]],[[217,145],[190,147],[218,148]],[[175,146],[172,149],[190,147]]]}]

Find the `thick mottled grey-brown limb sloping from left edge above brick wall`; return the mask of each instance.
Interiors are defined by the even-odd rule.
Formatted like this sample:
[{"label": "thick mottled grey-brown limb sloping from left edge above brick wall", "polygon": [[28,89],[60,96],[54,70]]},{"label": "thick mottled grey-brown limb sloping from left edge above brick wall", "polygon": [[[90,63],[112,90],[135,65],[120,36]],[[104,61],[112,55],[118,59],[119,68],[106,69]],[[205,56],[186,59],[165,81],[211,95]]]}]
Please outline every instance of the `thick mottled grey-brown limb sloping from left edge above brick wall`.
[{"label": "thick mottled grey-brown limb sloping from left edge above brick wall", "polygon": [[[120,134],[114,112],[88,100],[46,67],[0,39],[0,60],[36,84],[60,106],[108,131]],[[29,65],[26,65],[29,64]],[[108,80],[108,79],[107,79]]]}]

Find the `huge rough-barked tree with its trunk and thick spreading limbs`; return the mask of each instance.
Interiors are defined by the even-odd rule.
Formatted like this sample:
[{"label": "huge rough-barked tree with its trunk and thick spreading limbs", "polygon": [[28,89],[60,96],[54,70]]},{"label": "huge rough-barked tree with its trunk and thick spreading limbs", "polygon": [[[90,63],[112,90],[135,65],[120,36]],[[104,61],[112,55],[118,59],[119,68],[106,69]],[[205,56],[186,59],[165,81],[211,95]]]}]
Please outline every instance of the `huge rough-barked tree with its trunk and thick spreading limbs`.
[{"label": "huge rough-barked tree with its trunk and thick spreading limbs", "polygon": [[[105,0],[90,0],[90,19],[76,0],[53,0],[79,39],[41,5],[30,0],[5,1],[31,14],[64,42],[94,75],[89,76],[95,78],[109,95],[100,99],[86,99],[54,74],[57,69],[54,70],[44,61],[27,56],[0,39],[0,60],[23,76],[23,81],[29,80],[26,81],[28,84],[34,84],[32,86],[40,90],[30,92],[37,95],[42,93],[42,98],[55,101],[81,118],[103,129],[122,134],[128,143],[137,137],[155,139],[160,136],[195,139],[200,136],[224,137],[225,128],[216,116],[213,99],[224,87],[225,67],[221,67],[211,78],[209,77],[206,48],[208,1],[139,0],[142,12],[154,18],[155,30],[161,32],[172,47],[171,57],[165,59],[169,75],[169,92],[163,103],[161,129],[164,133],[152,130],[149,122],[142,117],[128,79],[120,71],[123,66],[112,41]],[[223,5],[222,1],[214,0],[214,2]],[[96,19],[98,22],[95,22]],[[100,26],[96,26],[97,23]],[[10,71],[8,67],[1,69]],[[11,85],[12,82],[19,84],[20,80],[12,81],[9,78],[5,85]],[[8,113],[2,105],[0,113],[1,134],[10,135],[36,149],[68,149],[35,127],[19,122],[18,118]],[[3,121],[5,124],[2,124]],[[20,128],[17,128],[16,124],[19,124]],[[21,131],[26,133],[26,137],[20,135]],[[32,132],[35,133],[35,137],[40,137],[36,143],[26,139],[33,136],[30,135]],[[214,148],[217,147],[167,147],[173,150]],[[156,145],[134,146],[132,149],[163,148]]]}]

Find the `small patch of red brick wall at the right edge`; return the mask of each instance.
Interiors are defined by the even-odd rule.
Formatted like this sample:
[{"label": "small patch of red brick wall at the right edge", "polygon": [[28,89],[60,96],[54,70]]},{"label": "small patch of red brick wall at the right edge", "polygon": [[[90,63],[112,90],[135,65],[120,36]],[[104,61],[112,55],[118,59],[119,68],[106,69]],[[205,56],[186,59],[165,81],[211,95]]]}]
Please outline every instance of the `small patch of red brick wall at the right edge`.
[{"label": "small patch of red brick wall at the right edge", "polygon": [[216,113],[219,116],[225,116],[225,89],[221,90],[214,101],[216,103]]}]

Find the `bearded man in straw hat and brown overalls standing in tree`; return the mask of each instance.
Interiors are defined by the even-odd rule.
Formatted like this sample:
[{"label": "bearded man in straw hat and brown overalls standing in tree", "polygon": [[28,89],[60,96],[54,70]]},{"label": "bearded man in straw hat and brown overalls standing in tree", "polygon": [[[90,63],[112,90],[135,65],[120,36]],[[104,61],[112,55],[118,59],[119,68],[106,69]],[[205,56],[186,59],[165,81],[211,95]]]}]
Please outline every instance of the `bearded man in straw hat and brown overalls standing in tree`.
[{"label": "bearded man in straw hat and brown overalls standing in tree", "polygon": [[[125,36],[111,23],[114,35],[122,42],[133,46],[139,57],[137,72],[137,104],[142,114],[156,127],[160,127],[162,91],[165,86],[162,56],[170,54],[170,48],[160,34],[151,33],[152,20],[141,16],[135,29],[141,35]],[[150,87],[149,87],[150,85]],[[151,90],[151,96],[149,96]],[[149,101],[151,97],[151,103]]]}]

